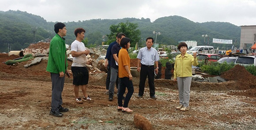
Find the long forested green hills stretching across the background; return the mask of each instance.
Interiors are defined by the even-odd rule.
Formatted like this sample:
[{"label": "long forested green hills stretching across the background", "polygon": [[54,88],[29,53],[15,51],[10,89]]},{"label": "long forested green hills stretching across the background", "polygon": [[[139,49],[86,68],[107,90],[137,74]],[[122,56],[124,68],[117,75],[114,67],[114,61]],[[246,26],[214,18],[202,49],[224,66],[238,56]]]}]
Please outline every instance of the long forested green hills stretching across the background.
[{"label": "long forested green hills stretching across the background", "polygon": [[[202,35],[209,36],[209,45],[222,47],[221,44],[212,43],[212,38],[231,39],[233,42],[237,39],[240,43],[241,27],[235,26],[228,22],[193,22],[181,16],[168,16],[156,19],[151,22],[150,19],[91,19],[78,22],[64,22],[68,32],[66,43],[71,44],[75,39],[74,30],[83,27],[89,44],[101,45],[103,41],[107,41],[107,37],[103,37],[110,33],[109,27],[117,25],[120,22],[132,22],[138,24],[141,31],[141,41],[139,45],[145,44],[147,37],[154,37],[153,31],[161,32],[157,36],[158,44],[177,45],[178,41],[197,41],[197,45],[204,45]],[[54,33],[55,22],[47,22],[38,15],[33,15],[24,11],[0,11],[0,52],[8,52],[8,44],[11,50],[20,50],[28,47],[33,43],[34,34],[31,27],[36,27],[35,41],[41,41],[46,38],[52,38]],[[206,38],[207,40],[207,38]],[[232,45],[226,45],[231,47]]]}]

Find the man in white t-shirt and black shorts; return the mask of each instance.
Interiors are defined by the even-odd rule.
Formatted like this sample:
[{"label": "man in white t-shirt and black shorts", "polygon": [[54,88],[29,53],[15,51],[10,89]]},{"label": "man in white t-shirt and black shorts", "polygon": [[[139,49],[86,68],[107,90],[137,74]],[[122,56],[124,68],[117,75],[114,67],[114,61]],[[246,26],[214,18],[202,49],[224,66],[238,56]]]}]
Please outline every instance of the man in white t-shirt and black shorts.
[{"label": "man in white t-shirt and black shorts", "polygon": [[[75,41],[71,44],[71,55],[73,57],[73,63],[71,71],[73,73],[73,86],[75,93],[75,102],[82,104],[83,101],[92,100],[87,94],[87,84],[89,81],[89,72],[86,67],[87,55],[90,50],[87,50],[83,44],[85,30],[83,28],[75,29]],[[83,92],[82,99],[79,97],[79,85]]]}]

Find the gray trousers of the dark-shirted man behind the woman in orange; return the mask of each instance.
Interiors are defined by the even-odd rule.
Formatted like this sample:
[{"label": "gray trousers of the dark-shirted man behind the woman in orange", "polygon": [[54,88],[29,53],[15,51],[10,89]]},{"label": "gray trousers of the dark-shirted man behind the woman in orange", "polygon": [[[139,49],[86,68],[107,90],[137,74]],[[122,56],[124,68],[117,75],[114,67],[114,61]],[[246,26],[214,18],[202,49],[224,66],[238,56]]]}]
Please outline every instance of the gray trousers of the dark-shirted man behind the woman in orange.
[{"label": "gray trousers of the dark-shirted man behind the woman in orange", "polygon": [[[115,69],[115,68],[111,67],[109,95],[114,95],[115,84],[117,82],[117,76],[118,76],[118,68]],[[120,78],[118,78],[117,94],[119,93],[119,91],[120,91]]]}]

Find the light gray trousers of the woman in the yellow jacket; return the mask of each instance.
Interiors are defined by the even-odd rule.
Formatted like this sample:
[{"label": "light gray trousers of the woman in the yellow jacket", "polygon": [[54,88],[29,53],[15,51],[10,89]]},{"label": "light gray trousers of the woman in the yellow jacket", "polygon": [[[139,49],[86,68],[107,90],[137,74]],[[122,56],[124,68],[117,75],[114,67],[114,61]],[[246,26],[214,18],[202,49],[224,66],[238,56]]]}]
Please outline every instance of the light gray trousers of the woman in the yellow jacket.
[{"label": "light gray trousers of the woman in the yellow jacket", "polygon": [[192,77],[177,77],[180,104],[184,107],[189,106],[191,80]]}]

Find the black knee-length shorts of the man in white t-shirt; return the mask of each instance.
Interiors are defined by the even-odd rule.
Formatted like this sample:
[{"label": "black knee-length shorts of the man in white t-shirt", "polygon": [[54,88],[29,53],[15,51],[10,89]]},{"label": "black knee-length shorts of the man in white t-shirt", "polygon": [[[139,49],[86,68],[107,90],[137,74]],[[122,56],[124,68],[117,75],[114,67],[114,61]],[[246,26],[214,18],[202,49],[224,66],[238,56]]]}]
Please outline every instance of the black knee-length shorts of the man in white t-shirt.
[{"label": "black knee-length shorts of the man in white t-shirt", "polygon": [[73,85],[87,85],[89,72],[87,67],[71,67],[73,73]]}]

